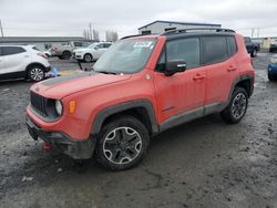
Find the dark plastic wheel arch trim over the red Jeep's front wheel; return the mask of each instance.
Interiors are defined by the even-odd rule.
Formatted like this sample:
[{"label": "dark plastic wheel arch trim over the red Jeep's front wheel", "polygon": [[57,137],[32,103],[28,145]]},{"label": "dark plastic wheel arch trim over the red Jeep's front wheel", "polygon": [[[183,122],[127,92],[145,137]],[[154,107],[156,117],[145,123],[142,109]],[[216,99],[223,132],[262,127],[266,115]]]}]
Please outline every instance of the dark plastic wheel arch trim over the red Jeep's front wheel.
[{"label": "dark plastic wheel arch trim over the red Jeep's front wheel", "polygon": [[140,100],[116,104],[102,110],[93,121],[91,134],[99,134],[103,125],[122,115],[131,115],[137,118],[145,125],[150,135],[158,132],[153,105],[147,100]]}]

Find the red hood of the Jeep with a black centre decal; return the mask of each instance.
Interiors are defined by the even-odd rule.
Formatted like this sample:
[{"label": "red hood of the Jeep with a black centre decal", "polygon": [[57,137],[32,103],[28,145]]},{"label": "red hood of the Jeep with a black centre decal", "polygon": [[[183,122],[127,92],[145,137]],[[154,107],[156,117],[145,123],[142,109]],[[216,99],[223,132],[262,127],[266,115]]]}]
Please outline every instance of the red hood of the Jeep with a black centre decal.
[{"label": "red hood of the Jeep with a black centre decal", "polygon": [[39,82],[32,85],[30,90],[44,97],[61,100],[73,93],[122,82],[131,79],[131,74],[113,75],[82,72],[80,74],[60,76]]}]

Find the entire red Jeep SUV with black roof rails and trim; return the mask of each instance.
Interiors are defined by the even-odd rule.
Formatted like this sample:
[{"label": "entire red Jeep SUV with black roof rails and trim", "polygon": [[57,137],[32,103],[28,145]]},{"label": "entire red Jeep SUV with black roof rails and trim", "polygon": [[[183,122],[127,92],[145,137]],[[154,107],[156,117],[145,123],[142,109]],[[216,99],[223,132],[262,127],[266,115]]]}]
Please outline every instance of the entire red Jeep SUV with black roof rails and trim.
[{"label": "entire red Jeep SUV with black roof rails and trim", "polygon": [[245,115],[254,70],[244,38],[233,30],[175,30],[113,44],[93,71],[31,86],[30,135],[75,158],[106,168],[135,166],[150,137],[220,113]]}]

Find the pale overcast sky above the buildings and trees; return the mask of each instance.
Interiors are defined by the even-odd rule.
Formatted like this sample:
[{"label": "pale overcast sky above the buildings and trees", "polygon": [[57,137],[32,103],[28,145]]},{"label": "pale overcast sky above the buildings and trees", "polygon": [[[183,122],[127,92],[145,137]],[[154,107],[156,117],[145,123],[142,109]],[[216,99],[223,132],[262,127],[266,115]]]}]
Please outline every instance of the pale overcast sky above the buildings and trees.
[{"label": "pale overcast sky above the buildings and trees", "polygon": [[219,23],[254,37],[277,35],[277,0],[0,0],[4,35],[74,35],[83,29],[120,37],[155,20]]}]

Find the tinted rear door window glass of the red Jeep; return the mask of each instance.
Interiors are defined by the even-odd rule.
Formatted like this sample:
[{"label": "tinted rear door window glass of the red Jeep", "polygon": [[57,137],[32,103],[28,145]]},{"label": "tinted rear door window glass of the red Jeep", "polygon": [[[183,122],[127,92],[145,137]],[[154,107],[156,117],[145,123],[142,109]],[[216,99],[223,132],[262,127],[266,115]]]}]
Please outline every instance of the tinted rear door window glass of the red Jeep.
[{"label": "tinted rear door window glass of the red Jeep", "polygon": [[213,64],[228,59],[225,37],[203,37],[203,64]]}]

